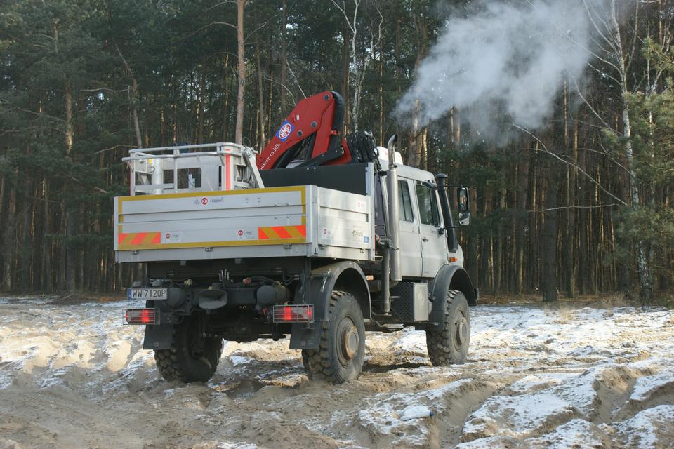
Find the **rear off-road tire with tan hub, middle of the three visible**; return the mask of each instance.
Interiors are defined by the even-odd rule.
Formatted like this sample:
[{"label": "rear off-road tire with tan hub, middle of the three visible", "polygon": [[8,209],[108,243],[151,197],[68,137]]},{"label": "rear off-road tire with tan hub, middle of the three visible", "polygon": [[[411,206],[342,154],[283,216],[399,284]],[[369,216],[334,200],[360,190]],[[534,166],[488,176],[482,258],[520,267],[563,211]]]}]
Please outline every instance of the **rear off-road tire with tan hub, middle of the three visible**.
[{"label": "rear off-road tire with tan hub, middle of the three visible", "polygon": [[[365,358],[365,324],[356,298],[348,292],[333,291],[330,297],[330,321],[323,322],[318,349],[303,349],[302,363],[310,379],[322,379],[333,384],[356,380]],[[345,360],[345,349],[339,335],[345,326],[352,326],[357,335],[355,354]]]}]

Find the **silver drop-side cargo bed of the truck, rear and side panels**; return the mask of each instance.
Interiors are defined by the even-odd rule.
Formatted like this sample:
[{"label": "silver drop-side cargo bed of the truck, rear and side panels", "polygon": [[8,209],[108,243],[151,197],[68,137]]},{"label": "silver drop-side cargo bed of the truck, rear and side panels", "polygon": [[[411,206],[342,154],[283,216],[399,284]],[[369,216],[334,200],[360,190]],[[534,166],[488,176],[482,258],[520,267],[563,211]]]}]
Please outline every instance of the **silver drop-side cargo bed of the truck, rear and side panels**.
[{"label": "silver drop-side cargo bed of the truck, rear and side panels", "polygon": [[121,196],[117,262],[332,257],[374,260],[369,196],[315,185]]}]

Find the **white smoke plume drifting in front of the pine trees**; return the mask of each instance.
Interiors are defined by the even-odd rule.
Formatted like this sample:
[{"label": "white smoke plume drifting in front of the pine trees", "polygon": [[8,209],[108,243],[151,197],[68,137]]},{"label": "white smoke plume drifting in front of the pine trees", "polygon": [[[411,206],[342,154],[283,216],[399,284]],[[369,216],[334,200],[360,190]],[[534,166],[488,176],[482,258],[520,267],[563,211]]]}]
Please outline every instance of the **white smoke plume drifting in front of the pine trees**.
[{"label": "white smoke plume drifting in front of the pine trees", "polygon": [[564,78],[580,82],[590,60],[593,25],[583,0],[489,1],[463,14],[447,19],[397,118],[409,121],[418,104],[424,125],[452,107],[470,107],[477,130],[493,125],[495,111],[540,127]]}]

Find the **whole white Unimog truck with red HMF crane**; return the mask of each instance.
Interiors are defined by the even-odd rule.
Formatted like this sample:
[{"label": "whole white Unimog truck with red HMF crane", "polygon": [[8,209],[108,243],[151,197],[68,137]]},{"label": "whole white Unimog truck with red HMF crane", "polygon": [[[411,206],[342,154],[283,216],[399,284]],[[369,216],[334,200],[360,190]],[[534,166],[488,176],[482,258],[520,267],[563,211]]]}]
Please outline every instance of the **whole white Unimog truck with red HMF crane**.
[{"label": "whole white Unimog truck with red HMF crane", "polygon": [[310,378],[356,379],[366,331],[425,330],[435,366],[463,363],[477,290],[456,222],[468,191],[404,166],[367,133],[340,136],[343,102],[296,105],[261,152],[232,143],[133,149],[114,201],[117,262],[142,262],[126,322],[145,325],[166,380],[204,382],[223,340],[290,337]]}]

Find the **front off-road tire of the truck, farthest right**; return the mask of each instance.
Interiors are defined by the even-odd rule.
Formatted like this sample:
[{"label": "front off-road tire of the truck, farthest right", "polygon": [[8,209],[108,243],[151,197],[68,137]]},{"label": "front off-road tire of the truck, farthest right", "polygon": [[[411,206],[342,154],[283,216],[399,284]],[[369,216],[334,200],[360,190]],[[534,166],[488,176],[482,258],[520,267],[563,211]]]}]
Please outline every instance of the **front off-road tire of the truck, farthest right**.
[{"label": "front off-road tire of the truck, farthest right", "polygon": [[[462,319],[465,321],[462,322]],[[463,342],[459,333],[463,333]],[[444,329],[426,330],[426,346],[433,366],[460,365],[465,362],[470,346],[470,314],[468,301],[460,291],[447,292]]]}]

